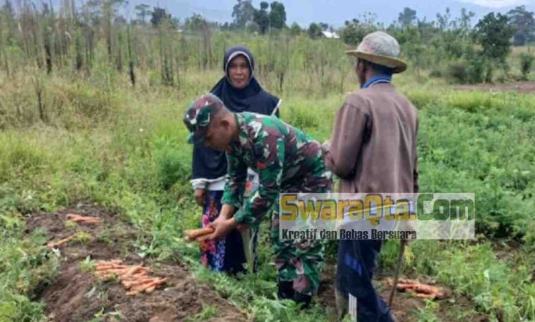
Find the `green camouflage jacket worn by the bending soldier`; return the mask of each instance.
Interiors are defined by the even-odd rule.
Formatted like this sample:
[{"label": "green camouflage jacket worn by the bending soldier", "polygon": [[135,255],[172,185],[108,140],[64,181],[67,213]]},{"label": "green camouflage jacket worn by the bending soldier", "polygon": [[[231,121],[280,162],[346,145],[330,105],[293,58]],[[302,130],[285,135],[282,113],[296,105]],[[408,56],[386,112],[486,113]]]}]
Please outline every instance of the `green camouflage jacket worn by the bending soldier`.
[{"label": "green camouflage jacket worn by the bending soldier", "polygon": [[[257,224],[286,192],[324,192],[330,173],[318,141],[275,116],[236,113],[239,142],[227,151],[228,175],[222,203],[239,208],[235,220]],[[247,168],[259,173],[259,188],[243,206]],[[318,189],[314,190],[314,187]]]}]

